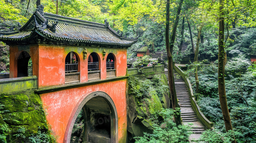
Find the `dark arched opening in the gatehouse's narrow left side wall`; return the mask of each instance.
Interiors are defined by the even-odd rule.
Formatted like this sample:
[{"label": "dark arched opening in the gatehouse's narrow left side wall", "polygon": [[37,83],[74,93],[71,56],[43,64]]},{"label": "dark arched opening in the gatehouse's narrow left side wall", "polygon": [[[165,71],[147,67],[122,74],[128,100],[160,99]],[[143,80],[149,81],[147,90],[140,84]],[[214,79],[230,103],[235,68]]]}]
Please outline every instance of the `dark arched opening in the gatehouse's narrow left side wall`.
[{"label": "dark arched opening in the gatehouse's narrow left side wall", "polygon": [[30,76],[33,76],[32,59],[28,52],[22,51],[19,54],[17,61],[17,77]]}]

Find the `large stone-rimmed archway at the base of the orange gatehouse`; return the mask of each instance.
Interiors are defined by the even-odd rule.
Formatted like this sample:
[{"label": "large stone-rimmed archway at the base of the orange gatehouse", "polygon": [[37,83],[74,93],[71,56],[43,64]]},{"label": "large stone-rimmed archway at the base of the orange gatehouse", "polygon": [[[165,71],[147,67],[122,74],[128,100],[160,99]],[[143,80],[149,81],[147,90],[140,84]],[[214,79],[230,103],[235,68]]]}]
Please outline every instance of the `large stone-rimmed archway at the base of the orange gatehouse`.
[{"label": "large stone-rimmed archway at the base of the orange gatehouse", "polygon": [[[83,132],[80,132],[78,139],[74,134],[79,128],[75,125],[79,120],[77,118],[79,112],[80,116],[82,112]],[[117,120],[117,110],[113,100],[104,92],[91,93],[82,100],[72,121],[70,120],[67,142],[115,143],[118,137]]]}]

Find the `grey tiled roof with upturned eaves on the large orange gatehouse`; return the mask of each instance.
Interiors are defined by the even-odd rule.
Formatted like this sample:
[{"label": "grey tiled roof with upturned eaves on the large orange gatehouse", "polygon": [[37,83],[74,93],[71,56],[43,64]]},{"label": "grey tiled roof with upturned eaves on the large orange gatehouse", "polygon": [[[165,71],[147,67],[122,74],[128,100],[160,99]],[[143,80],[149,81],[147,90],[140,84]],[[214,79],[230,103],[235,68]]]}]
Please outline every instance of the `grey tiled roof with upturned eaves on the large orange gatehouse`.
[{"label": "grey tiled roof with upturned eaves on the large orange gatehouse", "polygon": [[113,30],[108,22],[95,23],[56,14],[35,11],[19,31],[0,33],[0,41],[8,45],[53,44],[53,45],[101,45],[127,48],[137,42]]}]

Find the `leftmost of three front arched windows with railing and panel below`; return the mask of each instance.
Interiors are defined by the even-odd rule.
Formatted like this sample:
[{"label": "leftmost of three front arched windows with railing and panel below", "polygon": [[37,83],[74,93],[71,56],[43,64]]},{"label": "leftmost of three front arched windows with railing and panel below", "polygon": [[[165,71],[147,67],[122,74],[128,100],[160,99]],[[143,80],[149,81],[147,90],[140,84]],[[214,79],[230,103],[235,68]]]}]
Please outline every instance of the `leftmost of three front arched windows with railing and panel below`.
[{"label": "leftmost of three front arched windows with railing and panel below", "polygon": [[65,83],[79,82],[79,59],[75,52],[69,52],[65,58]]}]

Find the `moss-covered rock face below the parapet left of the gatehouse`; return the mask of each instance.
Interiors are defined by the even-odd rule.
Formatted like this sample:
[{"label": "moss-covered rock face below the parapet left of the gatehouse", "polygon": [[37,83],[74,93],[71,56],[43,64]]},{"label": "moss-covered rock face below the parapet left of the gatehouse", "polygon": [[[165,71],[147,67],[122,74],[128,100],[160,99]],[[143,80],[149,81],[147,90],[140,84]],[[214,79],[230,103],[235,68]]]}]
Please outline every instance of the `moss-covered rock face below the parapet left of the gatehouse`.
[{"label": "moss-covered rock face below the parapet left of the gatehouse", "polygon": [[0,134],[5,132],[6,136],[6,141],[2,142],[54,142],[38,94],[33,91],[1,94],[0,105]]}]

